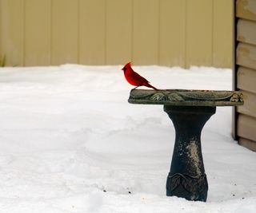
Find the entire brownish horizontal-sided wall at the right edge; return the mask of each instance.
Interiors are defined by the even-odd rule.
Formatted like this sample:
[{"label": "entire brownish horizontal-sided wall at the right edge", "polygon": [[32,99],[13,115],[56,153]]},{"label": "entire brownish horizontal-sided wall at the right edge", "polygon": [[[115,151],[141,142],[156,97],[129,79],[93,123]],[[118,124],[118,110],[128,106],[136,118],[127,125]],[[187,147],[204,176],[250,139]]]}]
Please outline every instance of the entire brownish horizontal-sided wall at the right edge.
[{"label": "entire brownish horizontal-sided wall at the right edge", "polygon": [[256,0],[236,1],[235,88],[242,90],[244,105],[236,108],[238,143],[256,151]]}]

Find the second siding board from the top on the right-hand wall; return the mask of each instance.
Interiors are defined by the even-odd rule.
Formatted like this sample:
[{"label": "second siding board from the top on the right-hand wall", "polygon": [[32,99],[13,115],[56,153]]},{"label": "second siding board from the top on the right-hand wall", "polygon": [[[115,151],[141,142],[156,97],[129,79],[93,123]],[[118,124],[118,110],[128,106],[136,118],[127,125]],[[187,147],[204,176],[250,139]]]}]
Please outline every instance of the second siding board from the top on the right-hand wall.
[{"label": "second siding board from the top on the right-hand wall", "polygon": [[237,40],[256,45],[256,22],[239,18]]}]

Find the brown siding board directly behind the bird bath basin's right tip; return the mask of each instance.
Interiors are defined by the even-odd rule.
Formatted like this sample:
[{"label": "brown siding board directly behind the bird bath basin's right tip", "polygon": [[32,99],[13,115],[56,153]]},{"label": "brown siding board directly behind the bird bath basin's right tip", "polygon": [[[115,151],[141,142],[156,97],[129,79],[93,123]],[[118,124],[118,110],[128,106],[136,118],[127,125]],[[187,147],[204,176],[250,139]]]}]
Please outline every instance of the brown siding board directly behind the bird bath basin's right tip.
[{"label": "brown siding board directly behind the bird bath basin's right tip", "polygon": [[254,116],[256,119],[256,93],[242,91],[244,97],[244,105],[238,107],[238,112],[248,116]]}]

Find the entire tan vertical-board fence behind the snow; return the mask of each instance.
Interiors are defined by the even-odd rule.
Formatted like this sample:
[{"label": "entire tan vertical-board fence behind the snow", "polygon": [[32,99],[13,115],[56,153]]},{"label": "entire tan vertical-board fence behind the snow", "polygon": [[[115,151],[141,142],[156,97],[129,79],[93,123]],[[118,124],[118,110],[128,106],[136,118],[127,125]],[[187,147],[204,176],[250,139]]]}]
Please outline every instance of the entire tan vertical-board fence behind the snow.
[{"label": "entire tan vertical-board fence behind the snow", "polygon": [[233,0],[0,0],[0,58],[231,68],[233,8]]}]

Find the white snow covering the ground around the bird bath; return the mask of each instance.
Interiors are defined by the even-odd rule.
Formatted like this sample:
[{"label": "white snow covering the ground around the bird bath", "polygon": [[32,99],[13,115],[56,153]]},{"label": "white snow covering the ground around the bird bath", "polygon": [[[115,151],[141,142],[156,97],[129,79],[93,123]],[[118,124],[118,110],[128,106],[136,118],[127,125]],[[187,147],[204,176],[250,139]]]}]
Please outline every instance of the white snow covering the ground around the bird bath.
[{"label": "white snow covering the ground around the bird bath", "polygon": [[[202,132],[207,202],[166,197],[173,124],[128,104],[121,68],[0,69],[0,212],[256,212],[256,154],[230,136],[230,107]],[[134,69],[160,89],[232,89],[230,69]]]}]

